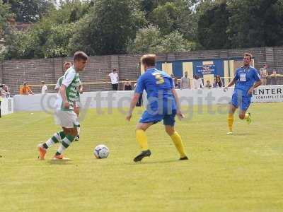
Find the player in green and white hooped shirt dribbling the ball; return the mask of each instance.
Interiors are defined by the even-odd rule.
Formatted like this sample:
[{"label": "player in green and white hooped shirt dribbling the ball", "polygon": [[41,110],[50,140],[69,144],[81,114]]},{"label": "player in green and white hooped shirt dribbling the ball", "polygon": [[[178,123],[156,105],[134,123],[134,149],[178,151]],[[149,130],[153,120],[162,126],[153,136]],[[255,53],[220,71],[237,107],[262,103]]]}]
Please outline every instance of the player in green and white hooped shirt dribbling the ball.
[{"label": "player in green and white hooped shirt dribbling the ball", "polygon": [[56,124],[62,126],[63,131],[55,133],[48,141],[40,143],[37,146],[41,160],[45,159],[47,148],[59,141],[61,143],[53,159],[69,159],[65,158],[62,153],[70,146],[78,134],[77,127],[79,126],[79,119],[74,112],[74,101],[76,101],[76,95],[79,89],[79,72],[85,69],[87,61],[88,56],[86,53],[76,52],[74,54],[74,66],[71,66],[64,73],[62,85],[57,94],[54,112]]}]

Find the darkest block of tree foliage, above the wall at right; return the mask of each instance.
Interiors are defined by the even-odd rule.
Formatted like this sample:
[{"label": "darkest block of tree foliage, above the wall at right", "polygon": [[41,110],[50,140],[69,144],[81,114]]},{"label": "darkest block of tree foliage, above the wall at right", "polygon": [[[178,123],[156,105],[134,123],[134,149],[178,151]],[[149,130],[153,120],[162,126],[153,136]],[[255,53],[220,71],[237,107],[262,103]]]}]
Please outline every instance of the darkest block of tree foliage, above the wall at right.
[{"label": "darkest block of tree foliage, above the wall at right", "polygon": [[282,0],[202,1],[198,40],[205,49],[281,46]]}]

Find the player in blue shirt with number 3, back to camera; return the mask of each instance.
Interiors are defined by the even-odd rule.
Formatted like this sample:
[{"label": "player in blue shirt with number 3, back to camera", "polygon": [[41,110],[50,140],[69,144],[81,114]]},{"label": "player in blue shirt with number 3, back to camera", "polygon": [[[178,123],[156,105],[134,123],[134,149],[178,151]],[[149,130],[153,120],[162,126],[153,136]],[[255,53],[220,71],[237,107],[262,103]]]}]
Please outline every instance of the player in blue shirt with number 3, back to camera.
[{"label": "player in blue shirt with number 3, back to camera", "polygon": [[146,54],[141,57],[141,64],[145,73],[142,74],[134,92],[134,97],[129,108],[126,119],[130,121],[134,107],[137,105],[139,96],[146,90],[148,104],[146,111],[141,115],[137,124],[136,136],[141,153],[134,158],[134,162],[141,161],[144,157],[149,157],[151,151],[147,147],[145,131],[149,126],[161,122],[165,125],[165,131],[173,140],[175,147],[180,153],[180,160],[187,160],[187,155],[183,146],[183,141],[174,129],[175,115],[183,119],[184,115],[180,111],[180,102],[174,88],[172,78],[164,71],[155,68],[156,55]]}]

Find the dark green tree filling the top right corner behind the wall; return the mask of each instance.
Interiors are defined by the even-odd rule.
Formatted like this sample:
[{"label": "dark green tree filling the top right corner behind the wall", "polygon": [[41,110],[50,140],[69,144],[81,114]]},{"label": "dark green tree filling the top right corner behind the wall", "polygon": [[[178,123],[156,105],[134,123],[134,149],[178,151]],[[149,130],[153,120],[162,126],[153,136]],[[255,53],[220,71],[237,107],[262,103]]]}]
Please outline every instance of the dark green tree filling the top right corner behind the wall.
[{"label": "dark green tree filling the top right corner behind the wall", "polygon": [[283,45],[281,0],[231,1],[228,33],[231,47]]}]

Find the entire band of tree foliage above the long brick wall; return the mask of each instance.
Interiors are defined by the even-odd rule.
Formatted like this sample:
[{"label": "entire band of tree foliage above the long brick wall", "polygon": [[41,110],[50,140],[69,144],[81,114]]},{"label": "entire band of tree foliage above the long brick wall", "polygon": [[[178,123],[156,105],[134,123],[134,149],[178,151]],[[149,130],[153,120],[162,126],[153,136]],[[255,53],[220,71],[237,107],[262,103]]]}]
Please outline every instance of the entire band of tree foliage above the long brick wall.
[{"label": "entire band of tree foliage above the long brick wall", "polygon": [[[6,59],[283,45],[282,0],[56,2],[0,0]],[[32,27],[10,30],[12,14]]]}]

